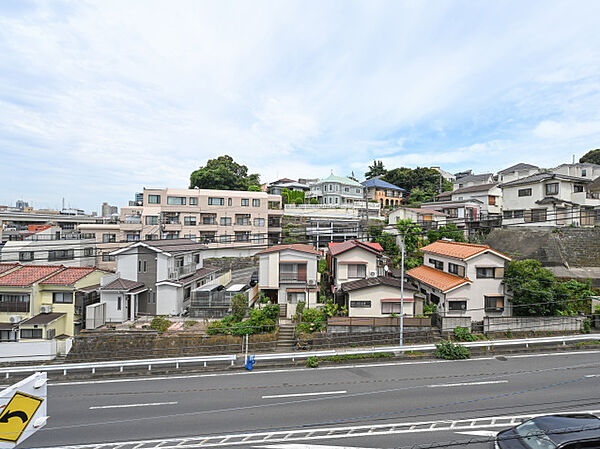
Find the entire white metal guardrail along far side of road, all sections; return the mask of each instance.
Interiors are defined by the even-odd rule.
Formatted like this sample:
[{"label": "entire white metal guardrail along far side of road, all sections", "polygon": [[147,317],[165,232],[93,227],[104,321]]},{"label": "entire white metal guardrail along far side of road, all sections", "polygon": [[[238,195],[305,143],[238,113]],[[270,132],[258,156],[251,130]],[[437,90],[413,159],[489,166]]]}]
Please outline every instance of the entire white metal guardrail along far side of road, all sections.
[{"label": "entire white metal guardrail along far side of road, all sections", "polygon": [[[587,334],[587,335],[564,335],[558,337],[542,337],[542,338],[520,338],[514,340],[485,340],[485,341],[473,341],[473,342],[459,342],[461,345],[469,348],[481,348],[481,347],[496,347],[496,346],[519,346],[524,345],[529,347],[533,344],[548,344],[548,343],[562,343],[562,346],[566,346],[567,342],[571,341],[600,341],[600,334]],[[354,354],[374,354],[379,352],[387,353],[404,353],[407,351],[433,351],[435,350],[435,344],[425,345],[410,345],[410,346],[378,346],[371,348],[357,348],[357,349],[345,349],[345,350],[326,350],[326,351],[298,351],[298,352],[286,352],[286,353],[269,353],[269,354],[255,354],[254,359],[259,360],[291,360],[306,359],[308,357],[332,357],[339,355],[354,355]],[[0,368],[0,375],[4,374],[5,377],[9,377],[10,374],[16,373],[30,373],[30,372],[63,372],[63,375],[67,375],[69,371],[77,370],[90,370],[92,374],[97,369],[104,368],[119,368],[122,372],[125,367],[132,366],[148,366],[148,371],[152,369],[154,365],[175,365],[175,368],[179,368],[182,364],[192,363],[203,363],[206,367],[208,362],[231,362],[231,366],[235,364],[237,356],[235,354],[230,355],[213,355],[213,356],[198,356],[198,357],[179,357],[179,358],[163,358],[163,359],[145,359],[145,360],[116,360],[110,362],[94,362],[94,363],[67,363],[62,365],[37,365],[37,366],[19,366],[19,367],[7,367]]]}]

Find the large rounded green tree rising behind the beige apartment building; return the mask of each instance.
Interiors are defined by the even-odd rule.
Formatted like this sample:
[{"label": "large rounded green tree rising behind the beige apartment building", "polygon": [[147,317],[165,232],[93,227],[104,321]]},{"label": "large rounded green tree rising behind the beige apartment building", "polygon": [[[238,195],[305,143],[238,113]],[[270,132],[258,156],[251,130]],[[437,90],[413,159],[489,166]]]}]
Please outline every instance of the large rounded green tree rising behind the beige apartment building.
[{"label": "large rounded green tree rising behind the beige apartment building", "polygon": [[227,155],[209,159],[204,167],[190,175],[191,189],[248,190],[250,186],[259,184],[257,174],[248,174],[248,167]]}]

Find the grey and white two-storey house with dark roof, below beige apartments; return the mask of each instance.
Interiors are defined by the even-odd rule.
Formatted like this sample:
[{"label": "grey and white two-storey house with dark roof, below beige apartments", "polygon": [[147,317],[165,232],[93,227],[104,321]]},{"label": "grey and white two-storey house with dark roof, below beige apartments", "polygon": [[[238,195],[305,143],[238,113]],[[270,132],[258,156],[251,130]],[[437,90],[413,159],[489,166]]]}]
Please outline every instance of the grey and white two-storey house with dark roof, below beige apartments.
[{"label": "grey and white two-storey house with dark roof, below beige apartments", "polygon": [[183,313],[191,291],[218,277],[217,268],[203,266],[205,249],[190,239],[171,239],[145,240],[112,252],[117,272],[101,287],[107,321]]}]

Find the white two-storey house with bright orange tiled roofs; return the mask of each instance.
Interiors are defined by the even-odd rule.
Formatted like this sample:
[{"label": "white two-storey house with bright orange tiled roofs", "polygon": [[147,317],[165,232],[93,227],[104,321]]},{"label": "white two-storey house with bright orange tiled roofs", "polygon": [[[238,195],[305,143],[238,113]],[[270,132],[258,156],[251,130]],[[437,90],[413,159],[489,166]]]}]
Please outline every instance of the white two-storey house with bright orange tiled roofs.
[{"label": "white two-storey house with bright orange tiled roofs", "polygon": [[438,240],[421,248],[423,265],[406,275],[442,317],[510,316],[503,284],[511,258],[488,245]]}]

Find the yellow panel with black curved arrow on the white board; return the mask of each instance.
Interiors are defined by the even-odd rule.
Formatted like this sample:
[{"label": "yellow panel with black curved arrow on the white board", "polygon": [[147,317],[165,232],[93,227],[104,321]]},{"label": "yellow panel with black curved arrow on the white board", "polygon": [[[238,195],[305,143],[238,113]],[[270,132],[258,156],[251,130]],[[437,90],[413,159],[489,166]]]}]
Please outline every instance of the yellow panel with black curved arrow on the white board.
[{"label": "yellow panel with black curved arrow on the white board", "polygon": [[17,391],[0,414],[0,441],[16,443],[43,399]]}]

